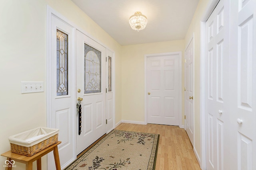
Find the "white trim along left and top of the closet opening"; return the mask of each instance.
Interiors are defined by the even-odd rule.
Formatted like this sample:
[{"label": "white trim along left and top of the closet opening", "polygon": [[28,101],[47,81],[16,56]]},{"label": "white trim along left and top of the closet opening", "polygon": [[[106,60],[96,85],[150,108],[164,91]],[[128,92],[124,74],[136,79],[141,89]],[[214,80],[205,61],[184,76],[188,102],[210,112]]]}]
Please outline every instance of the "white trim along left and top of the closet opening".
[{"label": "white trim along left and top of the closet opening", "polygon": [[200,139],[201,139],[201,158],[200,168],[206,169],[206,134],[205,134],[205,25],[212,11],[218,4],[219,0],[211,0],[208,3],[206,12],[203,14],[200,22]]}]

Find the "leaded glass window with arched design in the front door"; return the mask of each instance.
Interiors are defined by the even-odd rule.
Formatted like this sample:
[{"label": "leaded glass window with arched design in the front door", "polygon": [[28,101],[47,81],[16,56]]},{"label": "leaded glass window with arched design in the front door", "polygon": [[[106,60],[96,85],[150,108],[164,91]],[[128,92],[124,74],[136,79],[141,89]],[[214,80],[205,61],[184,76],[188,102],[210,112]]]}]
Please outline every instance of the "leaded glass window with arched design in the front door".
[{"label": "leaded glass window with arched design in the front door", "polygon": [[101,52],[84,44],[84,93],[101,92]]}]

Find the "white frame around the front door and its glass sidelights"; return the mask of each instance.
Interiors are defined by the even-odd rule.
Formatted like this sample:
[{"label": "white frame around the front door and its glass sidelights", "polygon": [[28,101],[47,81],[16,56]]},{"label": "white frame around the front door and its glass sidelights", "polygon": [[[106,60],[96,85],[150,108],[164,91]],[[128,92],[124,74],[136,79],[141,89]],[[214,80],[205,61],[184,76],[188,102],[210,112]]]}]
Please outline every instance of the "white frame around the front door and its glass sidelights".
[{"label": "white frame around the front door and its glass sidelights", "polygon": [[[73,27],[74,30],[78,30],[82,33],[84,33],[86,36],[88,36],[90,39],[96,41],[97,43],[99,43],[100,45],[102,45],[103,47],[106,48],[106,56],[112,55],[112,92],[113,92],[113,129],[115,128],[115,87],[116,87],[116,80],[115,80],[115,52],[110,49],[107,45],[105,45],[104,43],[102,43],[101,41],[98,41],[98,39],[95,39],[92,35],[90,35],[88,32],[84,31],[84,29],[82,29],[81,27],[79,27],[78,25],[72,23],[71,21],[67,20],[62,14],[56,12],[53,8],[51,8],[50,6],[46,5],[46,126],[50,127],[50,128],[56,128],[56,127],[52,127],[52,113],[51,113],[51,108],[52,108],[52,98],[51,98],[51,94],[52,94],[52,89],[51,89],[51,72],[52,72],[52,68],[51,68],[51,53],[52,53],[52,17],[58,18],[58,20],[63,21],[64,23],[66,23],[67,25],[70,25]],[[76,32],[76,31],[74,31]],[[75,34],[75,38],[72,39],[71,41],[73,45],[72,45],[72,51],[74,52],[74,56],[72,58],[72,63],[74,63],[72,66],[74,67],[74,69],[76,70],[76,34]],[[107,71],[107,69],[106,69]],[[74,73],[74,75],[72,75],[76,78],[76,73]],[[74,82],[72,84],[72,86],[74,86],[72,89],[70,89],[70,91],[74,94],[76,94],[76,83]],[[104,90],[104,88],[102,88]],[[74,105],[76,105],[76,95],[73,95],[73,99],[74,100]],[[74,109],[74,112],[76,112],[76,109]],[[76,115],[76,114],[75,114]],[[70,163],[72,163],[74,160],[76,160],[76,117],[74,119],[71,120],[71,124],[73,125],[72,129],[74,133],[71,133],[70,139],[72,140],[72,142],[74,143],[73,147],[73,159],[70,160],[69,162],[66,162],[62,168],[65,168],[66,166],[68,166]],[[106,127],[106,133],[109,133],[110,130],[107,129]],[[52,169],[52,167],[55,167],[55,162],[53,159],[53,155],[48,154],[48,159],[47,159],[47,167],[48,169]]]}]

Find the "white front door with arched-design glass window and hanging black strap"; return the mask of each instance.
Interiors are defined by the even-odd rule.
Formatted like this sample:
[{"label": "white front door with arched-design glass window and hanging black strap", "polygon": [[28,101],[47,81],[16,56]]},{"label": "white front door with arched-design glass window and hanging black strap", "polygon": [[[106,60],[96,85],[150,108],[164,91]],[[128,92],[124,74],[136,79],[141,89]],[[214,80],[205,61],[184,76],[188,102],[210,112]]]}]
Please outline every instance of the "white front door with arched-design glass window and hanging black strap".
[{"label": "white front door with arched-design glass window and hanging black strap", "polygon": [[79,154],[106,133],[106,48],[80,31],[76,31],[76,88],[76,97],[83,99],[81,117],[77,116]]}]

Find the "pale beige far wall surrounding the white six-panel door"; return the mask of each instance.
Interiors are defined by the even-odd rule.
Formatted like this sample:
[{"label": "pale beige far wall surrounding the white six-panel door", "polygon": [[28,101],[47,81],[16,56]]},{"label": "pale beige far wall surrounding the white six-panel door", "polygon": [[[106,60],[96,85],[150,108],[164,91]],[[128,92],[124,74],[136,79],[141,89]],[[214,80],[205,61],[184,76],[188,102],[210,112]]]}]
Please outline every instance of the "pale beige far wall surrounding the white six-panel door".
[{"label": "pale beige far wall surrounding the white six-panel door", "polygon": [[[122,47],[122,120],[144,122],[144,55],[182,51],[183,61],[184,46],[184,40],[178,40]],[[183,66],[184,64],[182,70],[184,70]],[[183,77],[184,71],[182,71],[182,87],[184,87]]]}]

